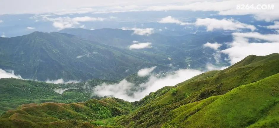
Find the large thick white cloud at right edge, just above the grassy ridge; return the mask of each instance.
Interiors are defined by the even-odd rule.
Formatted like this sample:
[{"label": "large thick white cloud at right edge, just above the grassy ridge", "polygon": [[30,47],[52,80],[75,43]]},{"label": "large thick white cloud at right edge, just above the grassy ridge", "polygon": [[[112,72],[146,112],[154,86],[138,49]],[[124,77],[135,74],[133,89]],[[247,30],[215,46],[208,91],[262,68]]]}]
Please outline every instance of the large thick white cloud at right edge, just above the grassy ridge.
[{"label": "large thick white cloud at right edge, just above the grassy ridge", "polygon": [[[227,54],[231,64],[244,59],[248,55],[264,56],[278,53],[279,35],[260,33],[232,33],[233,41],[229,43],[229,48],[221,50]],[[249,42],[249,39],[264,40],[263,43]]]}]

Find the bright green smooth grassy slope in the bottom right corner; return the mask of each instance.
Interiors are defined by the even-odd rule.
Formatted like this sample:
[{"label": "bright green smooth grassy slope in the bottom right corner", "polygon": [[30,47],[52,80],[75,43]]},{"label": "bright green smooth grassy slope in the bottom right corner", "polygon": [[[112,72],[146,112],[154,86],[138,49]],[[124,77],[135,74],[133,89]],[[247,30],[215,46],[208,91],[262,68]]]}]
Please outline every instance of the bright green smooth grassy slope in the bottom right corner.
[{"label": "bright green smooth grassy slope in the bottom right corner", "polygon": [[[262,121],[255,125],[267,122],[265,124],[267,127],[278,126],[279,109],[276,109],[279,103],[278,83],[279,74],[275,74],[258,82],[237,87],[224,95],[180,106],[172,111],[175,118],[165,124],[165,127],[238,128],[254,124],[261,118]],[[214,100],[212,103],[204,103],[212,99]],[[192,104],[197,105],[191,106]],[[206,106],[199,107],[203,105]],[[187,108],[188,106],[190,107]],[[269,115],[269,111],[272,111],[273,116]]]}]

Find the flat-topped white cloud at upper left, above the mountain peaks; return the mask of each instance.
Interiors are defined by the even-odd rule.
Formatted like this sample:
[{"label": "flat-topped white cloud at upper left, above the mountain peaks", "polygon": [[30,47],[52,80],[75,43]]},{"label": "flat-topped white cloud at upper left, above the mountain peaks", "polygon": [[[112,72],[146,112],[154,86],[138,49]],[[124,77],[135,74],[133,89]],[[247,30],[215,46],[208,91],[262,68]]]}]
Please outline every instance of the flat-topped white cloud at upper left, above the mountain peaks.
[{"label": "flat-topped white cloud at upper left, above the mountain peaks", "polygon": [[93,22],[93,21],[104,21],[104,18],[100,17],[57,17],[57,18],[49,18],[44,16],[43,20],[52,21],[53,27],[58,28],[58,30],[62,30],[65,28],[74,28],[76,25],[80,25],[80,22]]}]

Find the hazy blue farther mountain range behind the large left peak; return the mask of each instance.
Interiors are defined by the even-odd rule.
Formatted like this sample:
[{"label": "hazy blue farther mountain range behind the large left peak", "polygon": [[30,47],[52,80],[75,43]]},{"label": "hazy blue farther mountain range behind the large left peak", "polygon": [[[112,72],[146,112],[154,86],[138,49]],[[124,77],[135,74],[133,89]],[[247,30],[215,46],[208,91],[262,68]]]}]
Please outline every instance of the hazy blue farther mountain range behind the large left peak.
[{"label": "hazy blue farther mountain range behind the large left peak", "polygon": [[[196,32],[184,33],[180,36],[170,36],[171,34],[162,35],[160,33],[153,33],[151,35],[137,35],[134,30],[122,29],[96,29],[87,30],[82,28],[63,29],[60,33],[67,33],[76,35],[79,38],[95,41],[105,45],[128,48],[130,45],[135,44],[133,41],[140,43],[152,43],[152,48],[137,49],[136,52],[149,53],[154,56],[166,56],[169,61],[177,69],[191,68],[191,69],[206,69],[207,63],[215,64],[218,66],[229,66],[225,55],[221,55],[220,62],[214,59],[215,51],[210,48],[204,48],[203,45],[207,42],[222,43],[222,48],[226,48],[225,43],[232,41],[231,33],[223,31],[213,32]],[[175,33],[175,31],[171,31]],[[169,33],[171,33],[169,32]],[[202,38],[201,38],[202,37]],[[190,65],[190,66],[189,66]]]}]

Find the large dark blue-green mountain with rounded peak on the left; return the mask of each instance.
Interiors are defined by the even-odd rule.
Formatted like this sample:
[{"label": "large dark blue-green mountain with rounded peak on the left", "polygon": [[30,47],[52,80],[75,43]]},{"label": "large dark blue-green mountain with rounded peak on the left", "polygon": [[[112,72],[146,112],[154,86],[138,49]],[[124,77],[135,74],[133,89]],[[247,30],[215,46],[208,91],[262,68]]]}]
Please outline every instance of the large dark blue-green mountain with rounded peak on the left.
[{"label": "large dark blue-green mountain with rounded peak on the left", "polygon": [[[114,80],[148,66],[163,70],[170,63],[162,55],[133,52],[56,32],[0,38],[0,51],[0,68],[40,81]],[[125,72],[128,69],[130,72]]]}]

